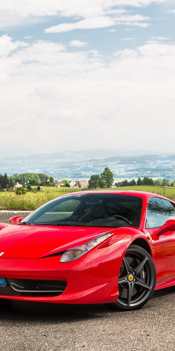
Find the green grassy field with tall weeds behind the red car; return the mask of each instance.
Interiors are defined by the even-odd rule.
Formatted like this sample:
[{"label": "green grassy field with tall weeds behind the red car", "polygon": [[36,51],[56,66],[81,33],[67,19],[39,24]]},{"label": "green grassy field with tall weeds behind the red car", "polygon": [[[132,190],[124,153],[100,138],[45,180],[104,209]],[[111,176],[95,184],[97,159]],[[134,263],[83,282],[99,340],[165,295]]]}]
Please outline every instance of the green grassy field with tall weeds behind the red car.
[{"label": "green grassy field with tall weeds behind the red car", "polygon": [[[25,195],[16,195],[15,192],[0,192],[0,210],[35,210],[45,202],[54,199],[60,195],[75,193],[81,191],[81,188],[54,188],[42,187],[42,191],[27,192]],[[154,194],[159,194],[175,200],[175,187],[158,187],[158,186],[124,186],[118,188],[96,189],[98,190],[117,190],[117,191],[146,191]]]}]

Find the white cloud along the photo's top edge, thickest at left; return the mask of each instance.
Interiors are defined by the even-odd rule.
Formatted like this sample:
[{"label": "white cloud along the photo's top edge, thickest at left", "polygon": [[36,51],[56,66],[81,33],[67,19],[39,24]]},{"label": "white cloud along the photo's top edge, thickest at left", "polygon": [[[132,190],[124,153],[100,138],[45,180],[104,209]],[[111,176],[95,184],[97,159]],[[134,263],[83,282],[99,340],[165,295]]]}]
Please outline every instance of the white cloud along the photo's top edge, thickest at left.
[{"label": "white cloud along the photo's top edge, thickest at left", "polygon": [[[79,20],[113,16],[131,11],[123,6],[142,7],[169,0],[7,0],[0,3],[0,28],[34,24],[57,18],[73,17]],[[93,27],[94,28],[94,27]],[[95,27],[96,28],[96,27]]]}]

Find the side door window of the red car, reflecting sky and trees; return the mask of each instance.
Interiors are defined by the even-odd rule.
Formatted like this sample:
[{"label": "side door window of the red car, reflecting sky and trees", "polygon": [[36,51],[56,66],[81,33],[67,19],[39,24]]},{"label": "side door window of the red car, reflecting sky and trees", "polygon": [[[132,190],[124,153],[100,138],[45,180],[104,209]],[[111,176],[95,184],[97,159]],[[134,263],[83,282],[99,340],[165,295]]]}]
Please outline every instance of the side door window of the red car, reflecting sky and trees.
[{"label": "side door window of the red car, reflecting sky and trees", "polygon": [[161,227],[168,219],[175,219],[175,208],[168,201],[152,197],[148,201],[146,228]]}]

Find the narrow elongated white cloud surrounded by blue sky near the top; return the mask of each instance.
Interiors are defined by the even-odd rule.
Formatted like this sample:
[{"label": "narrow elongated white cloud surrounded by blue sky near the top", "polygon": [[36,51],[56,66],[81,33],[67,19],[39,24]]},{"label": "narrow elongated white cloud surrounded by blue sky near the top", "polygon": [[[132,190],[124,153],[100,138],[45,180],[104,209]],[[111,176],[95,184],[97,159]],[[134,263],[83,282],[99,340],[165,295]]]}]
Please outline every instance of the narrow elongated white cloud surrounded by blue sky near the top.
[{"label": "narrow elongated white cloud surrounded by blue sky near the top", "polygon": [[120,15],[118,17],[98,16],[86,18],[78,22],[62,23],[57,26],[52,26],[44,29],[44,33],[69,32],[74,29],[105,28],[113,25],[148,27],[150,24],[143,22],[146,20],[149,21],[150,18],[142,15]]}]

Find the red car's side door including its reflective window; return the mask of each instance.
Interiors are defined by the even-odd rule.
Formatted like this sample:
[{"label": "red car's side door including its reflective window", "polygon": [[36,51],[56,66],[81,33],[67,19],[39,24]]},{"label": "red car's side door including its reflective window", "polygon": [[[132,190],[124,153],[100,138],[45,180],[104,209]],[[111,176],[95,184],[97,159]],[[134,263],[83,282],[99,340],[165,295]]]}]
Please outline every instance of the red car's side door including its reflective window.
[{"label": "red car's side door including its reflective window", "polygon": [[156,231],[168,219],[175,219],[175,208],[168,200],[152,197],[148,200],[146,230],[155,241],[157,282],[175,277],[175,231],[156,236]]}]

